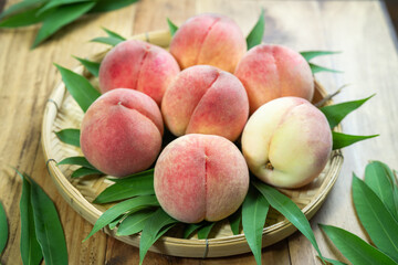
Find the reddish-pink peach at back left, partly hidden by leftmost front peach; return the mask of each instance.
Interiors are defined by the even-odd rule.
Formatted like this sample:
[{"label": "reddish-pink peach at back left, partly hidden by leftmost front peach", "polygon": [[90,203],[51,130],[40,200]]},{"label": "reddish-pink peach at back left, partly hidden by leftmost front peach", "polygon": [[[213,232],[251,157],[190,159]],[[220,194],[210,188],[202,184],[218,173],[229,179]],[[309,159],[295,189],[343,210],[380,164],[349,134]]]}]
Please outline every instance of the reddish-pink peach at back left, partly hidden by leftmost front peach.
[{"label": "reddish-pink peach at back left, partly hidden by leftmost front peach", "polygon": [[167,86],[179,71],[166,50],[143,41],[124,41],[101,63],[100,89],[102,93],[119,87],[136,89],[160,106]]}]

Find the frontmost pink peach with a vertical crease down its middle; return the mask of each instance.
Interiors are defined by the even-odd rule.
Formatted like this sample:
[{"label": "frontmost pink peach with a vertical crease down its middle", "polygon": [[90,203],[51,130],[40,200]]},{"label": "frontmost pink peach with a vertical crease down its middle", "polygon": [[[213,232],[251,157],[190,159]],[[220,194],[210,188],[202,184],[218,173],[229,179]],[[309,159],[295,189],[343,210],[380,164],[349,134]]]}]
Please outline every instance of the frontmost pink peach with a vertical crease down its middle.
[{"label": "frontmost pink peach with a vertical crease down its middle", "polygon": [[219,221],[242,204],[249,169],[242,153],[226,138],[186,135],[161,151],[154,187],[170,216],[186,223]]}]

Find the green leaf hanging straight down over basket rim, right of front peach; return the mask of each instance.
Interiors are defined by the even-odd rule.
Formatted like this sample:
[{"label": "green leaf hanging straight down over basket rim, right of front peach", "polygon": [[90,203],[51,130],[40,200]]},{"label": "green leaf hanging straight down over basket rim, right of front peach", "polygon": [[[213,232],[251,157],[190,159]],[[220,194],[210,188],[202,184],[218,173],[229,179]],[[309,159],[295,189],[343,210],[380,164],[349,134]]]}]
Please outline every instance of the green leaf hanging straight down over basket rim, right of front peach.
[{"label": "green leaf hanging straight down over basket rim, right of front peach", "polygon": [[256,264],[261,264],[262,231],[269,209],[265,197],[250,186],[242,204],[242,226]]}]

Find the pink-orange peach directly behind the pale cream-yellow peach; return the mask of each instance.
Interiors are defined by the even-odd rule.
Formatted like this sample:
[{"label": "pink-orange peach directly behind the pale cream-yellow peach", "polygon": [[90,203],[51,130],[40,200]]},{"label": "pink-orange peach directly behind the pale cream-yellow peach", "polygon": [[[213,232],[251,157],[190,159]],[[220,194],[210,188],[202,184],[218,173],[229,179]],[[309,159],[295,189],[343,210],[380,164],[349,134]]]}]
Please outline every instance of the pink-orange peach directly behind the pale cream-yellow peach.
[{"label": "pink-orange peach directly behind the pale cream-yellow peach", "polygon": [[234,75],[248,92],[251,114],[277,97],[296,96],[311,102],[314,95],[308,63],[285,46],[254,46],[239,62]]}]

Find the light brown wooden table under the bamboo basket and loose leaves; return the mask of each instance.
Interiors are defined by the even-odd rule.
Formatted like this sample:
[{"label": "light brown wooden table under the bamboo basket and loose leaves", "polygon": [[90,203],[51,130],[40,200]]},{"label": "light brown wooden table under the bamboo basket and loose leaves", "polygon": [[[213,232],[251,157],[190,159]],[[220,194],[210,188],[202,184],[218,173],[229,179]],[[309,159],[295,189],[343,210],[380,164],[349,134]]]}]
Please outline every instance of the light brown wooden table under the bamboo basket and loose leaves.
[{"label": "light brown wooden table under the bamboo basket and loose leaves", "polygon": [[[17,1],[6,1],[6,8]],[[0,8],[4,1],[0,0]],[[265,10],[264,42],[280,43],[297,51],[333,50],[342,54],[316,59],[324,66],[344,74],[320,73],[316,77],[328,92],[352,84],[335,99],[357,99],[377,93],[343,123],[347,134],[380,134],[380,137],[344,149],[344,166],[325,204],[311,224],[321,251],[327,257],[345,261],[317,227],[333,224],[362,237],[353,209],[352,173],[364,174],[369,160],[381,160],[398,168],[398,60],[391,23],[379,1],[255,1],[255,0],[142,0],[128,8],[87,15],[63,29],[44,45],[30,51],[36,26],[0,30],[0,201],[10,224],[10,239],[2,264],[21,264],[19,199],[21,180],[11,167],[33,177],[55,202],[64,227],[70,264],[137,264],[138,248],[96,233],[82,243],[92,225],[81,218],[57,193],[45,168],[41,148],[41,124],[50,92],[60,82],[53,62],[66,67],[100,52],[104,45],[88,40],[104,35],[106,26],[128,36],[153,30],[166,30],[166,18],[176,24],[202,12],[233,18],[248,33],[261,8]],[[300,233],[266,247],[266,264],[320,264],[316,252]],[[146,264],[254,264],[251,254],[227,258],[193,259],[148,253]]]}]

